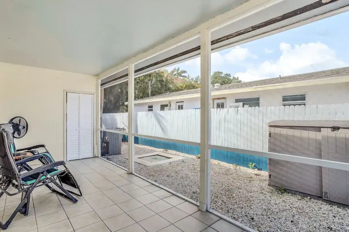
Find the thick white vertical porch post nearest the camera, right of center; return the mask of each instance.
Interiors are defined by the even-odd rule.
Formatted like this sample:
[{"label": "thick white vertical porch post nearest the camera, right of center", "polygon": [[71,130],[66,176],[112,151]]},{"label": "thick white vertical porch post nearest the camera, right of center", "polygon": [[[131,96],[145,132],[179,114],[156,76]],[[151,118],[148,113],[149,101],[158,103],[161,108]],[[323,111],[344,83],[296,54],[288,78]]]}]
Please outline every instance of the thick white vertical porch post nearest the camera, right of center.
[{"label": "thick white vertical porch post nearest the camera, right of center", "polygon": [[206,211],[210,202],[211,151],[211,31],[203,29],[200,34],[200,198],[199,209]]}]

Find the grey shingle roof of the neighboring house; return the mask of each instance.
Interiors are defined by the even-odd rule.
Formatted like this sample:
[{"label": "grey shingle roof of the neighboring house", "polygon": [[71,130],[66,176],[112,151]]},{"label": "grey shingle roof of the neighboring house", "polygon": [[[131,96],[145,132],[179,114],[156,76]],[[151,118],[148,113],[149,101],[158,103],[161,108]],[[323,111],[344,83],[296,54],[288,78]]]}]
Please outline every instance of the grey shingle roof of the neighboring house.
[{"label": "grey shingle roof of the neighboring house", "polygon": [[[348,77],[348,76],[349,76],[349,67],[344,67],[340,69],[330,69],[325,71],[290,75],[290,76],[285,76],[281,78],[279,77],[268,78],[268,79],[257,80],[257,81],[248,81],[248,82],[242,82],[242,83],[222,85],[217,88],[212,88],[211,91],[215,92],[215,91],[222,91],[222,90],[244,89],[244,88],[251,88],[251,87],[269,86],[269,85],[277,85],[277,84],[285,84],[285,83],[296,83],[301,81],[311,81],[311,80],[319,80],[319,79],[327,79],[327,78],[340,78],[340,77]],[[135,100],[135,102],[151,100],[151,99],[159,99],[159,98],[165,98],[165,97],[166,98],[180,97],[180,96],[199,94],[199,93],[200,93],[200,89],[191,89],[191,90],[184,90],[184,91],[146,97],[146,98]]]}]

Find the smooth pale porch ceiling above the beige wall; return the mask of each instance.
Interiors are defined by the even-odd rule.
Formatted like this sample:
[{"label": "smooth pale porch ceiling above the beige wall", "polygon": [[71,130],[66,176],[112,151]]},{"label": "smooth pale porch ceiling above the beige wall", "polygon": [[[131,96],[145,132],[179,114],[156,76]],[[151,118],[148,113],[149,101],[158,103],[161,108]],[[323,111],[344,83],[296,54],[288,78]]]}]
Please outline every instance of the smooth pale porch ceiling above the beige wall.
[{"label": "smooth pale porch ceiling above the beige wall", "polygon": [[2,0],[0,62],[98,75],[244,0]]}]

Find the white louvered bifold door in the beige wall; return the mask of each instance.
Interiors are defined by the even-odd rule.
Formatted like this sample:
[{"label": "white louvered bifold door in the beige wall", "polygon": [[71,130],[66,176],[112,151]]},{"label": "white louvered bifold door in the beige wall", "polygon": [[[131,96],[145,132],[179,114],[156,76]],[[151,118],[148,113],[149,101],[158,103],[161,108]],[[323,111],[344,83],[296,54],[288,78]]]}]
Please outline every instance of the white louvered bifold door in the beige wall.
[{"label": "white louvered bifold door in the beige wall", "polygon": [[93,157],[93,95],[67,93],[67,160]]}]

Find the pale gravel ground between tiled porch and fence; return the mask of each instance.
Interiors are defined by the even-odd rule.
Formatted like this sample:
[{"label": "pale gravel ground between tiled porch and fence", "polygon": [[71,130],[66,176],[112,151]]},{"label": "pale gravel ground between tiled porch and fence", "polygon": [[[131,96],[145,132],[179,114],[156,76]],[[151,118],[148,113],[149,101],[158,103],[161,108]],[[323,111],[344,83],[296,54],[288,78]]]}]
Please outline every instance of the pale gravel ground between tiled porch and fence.
[{"label": "pale gravel ground between tiled porch and fence", "polygon": [[[199,201],[199,162],[194,155],[135,144],[135,155],[164,152],[185,157],[154,166],[135,162],[135,172]],[[121,155],[104,158],[127,166],[127,143]],[[211,208],[261,232],[349,232],[349,208],[284,193],[268,186],[266,171],[211,160]]]}]

